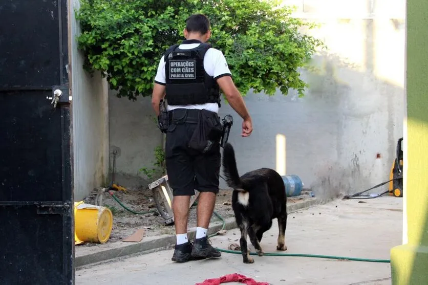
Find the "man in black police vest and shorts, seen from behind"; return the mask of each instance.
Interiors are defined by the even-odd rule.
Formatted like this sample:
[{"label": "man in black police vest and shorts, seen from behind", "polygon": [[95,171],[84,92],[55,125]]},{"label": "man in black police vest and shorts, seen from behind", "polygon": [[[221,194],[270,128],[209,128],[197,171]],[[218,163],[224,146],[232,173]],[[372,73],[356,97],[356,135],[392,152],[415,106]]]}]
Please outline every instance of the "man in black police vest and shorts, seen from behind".
[{"label": "man in black police vest and shorts, seen from behind", "polygon": [[[206,43],[211,36],[208,18],[202,14],[188,17],[184,36],[181,45],[170,47],[162,56],[152,95],[158,118],[160,102],[166,99],[170,122],[165,131],[165,160],[174,195],[177,242],[172,260],[176,262],[221,256],[207,239],[219,192],[220,89],[243,119],[242,137],[252,132],[251,117],[223,53]],[[200,196],[196,238],[190,243],[187,221],[194,189],[200,191]]]}]

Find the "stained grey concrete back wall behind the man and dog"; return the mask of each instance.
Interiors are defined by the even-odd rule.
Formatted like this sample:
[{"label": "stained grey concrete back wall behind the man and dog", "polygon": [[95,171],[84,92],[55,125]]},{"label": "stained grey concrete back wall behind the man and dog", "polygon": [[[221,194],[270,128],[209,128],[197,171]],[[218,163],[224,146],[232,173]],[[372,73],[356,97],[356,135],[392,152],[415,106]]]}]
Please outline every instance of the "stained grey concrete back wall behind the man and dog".
[{"label": "stained grey concrete back wall behind the man and dog", "polygon": [[[302,70],[310,84],[304,98],[293,92],[247,94],[254,124],[249,138],[240,137],[242,120],[223,102],[220,115],[235,119],[229,141],[240,173],[271,167],[297,174],[325,198],[388,180],[402,137],[404,1],[284,3],[298,7],[295,17],[320,24],[311,34],[328,50],[314,56],[311,65],[317,71]],[[110,96],[110,113],[111,144],[122,150],[118,168],[135,175],[140,165],[151,164],[153,148],[162,142],[145,117],[153,115],[149,100],[132,103]]]}]

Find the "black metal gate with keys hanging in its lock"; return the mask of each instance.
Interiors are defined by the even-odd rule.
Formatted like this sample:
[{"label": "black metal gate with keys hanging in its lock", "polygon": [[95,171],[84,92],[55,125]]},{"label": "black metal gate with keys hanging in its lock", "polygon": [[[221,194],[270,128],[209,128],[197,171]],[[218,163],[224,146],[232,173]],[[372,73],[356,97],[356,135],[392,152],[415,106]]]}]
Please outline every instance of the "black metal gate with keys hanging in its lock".
[{"label": "black metal gate with keys hanging in its lock", "polygon": [[74,283],[68,55],[67,0],[0,1],[2,285]]}]

